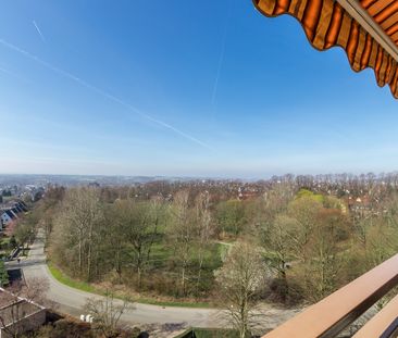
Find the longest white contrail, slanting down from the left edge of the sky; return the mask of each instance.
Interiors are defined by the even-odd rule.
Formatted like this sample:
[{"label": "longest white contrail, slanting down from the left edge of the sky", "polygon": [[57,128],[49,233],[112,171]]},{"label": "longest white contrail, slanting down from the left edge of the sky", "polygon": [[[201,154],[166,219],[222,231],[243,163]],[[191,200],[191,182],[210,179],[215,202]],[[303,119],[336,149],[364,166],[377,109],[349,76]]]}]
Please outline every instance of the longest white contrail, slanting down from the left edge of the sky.
[{"label": "longest white contrail, slanting down from the left edge of the sky", "polygon": [[201,146],[203,148],[207,148],[207,149],[212,150],[212,148],[210,146],[208,146],[203,141],[195,138],[194,136],[190,136],[190,135],[186,134],[185,132],[179,130],[178,128],[176,128],[176,127],[174,127],[174,126],[172,126],[172,125],[170,125],[170,124],[167,124],[167,123],[165,123],[165,122],[163,122],[161,120],[154,118],[154,117],[152,117],[152,116],[150,116],[150,115],[141,112],[139,109],[135,108],[134,105],[132,105],[129,103],[126,103],[122,99],[120,99],[120,98],[117,98],[117,97],[115,97],[115,96],[113,96],[113,95],[111,95],[111,93],[109,93],[107,91],[103,91],[102,89],[90,85],[89,83],[83,80],[82,78],[79,78],[79,77],[77,77],[77,76],[75,76],[75,75],[73,75],[73,74],[71,74],[71,73],[69,73],[66,71],[63,71],[63,70],[61,70],[61,68],[59,68],[59,67],[57,67],[57,66],[54,66],[54,65],[52,65],[52,64],[50,64],[50,63],[41,60],[41,59],[39,59],[38,57],[36,57],[36,55],[27,52],[26,50],[23,50],[22,48],[16,47],[15,45],[12,45],[12,43],[3,40],[3,39],[0,39],[0,43],[3,45],[7,48],[13,50],[13,51],[16,51],[16,52],[23,54],[24,57],[26,57],[26,58],[28,58],[30,60],[34,60],[35,62],[41,64],[42,66],[45,66],[45,67],[47,67],[49,70],[51,70],[52,72],[58,73],[58,74],[60,74],[60,75],[62,75],[64,77],[67,77],[70,79],[78,83],[80,86],[84,86],[84,87],[86,87],[86,88],[88,88],[88,89],[90,89],[92,91],[96,91],[99,95],[103,96],[104,98],[107,98],[107,99],[109,99],[109,100],[111,100],[113,102],[116,102],[116,103],[125,107],[126,109],[133,111],[135,114],[137,114],[137,115],[139,115],[139,116],[141,116],[141,117],[144,117],[146,120],[149,120],[149,121],[151,121],[151,122],[153,122],[153,123],[156,123],[156,124],[158,124],[158,125],[160,125],[160,126],[162,126],[164,128],[167,128],[167,129],[174,132],[175,134],[177,134],[177,135],[179,135],[179,136],[188,139],[188,140],[190,140],[190,141],[192,141],[192,142],[195,142],[195,143],[197,143],[197,145],[199,145],[199,146]]}]

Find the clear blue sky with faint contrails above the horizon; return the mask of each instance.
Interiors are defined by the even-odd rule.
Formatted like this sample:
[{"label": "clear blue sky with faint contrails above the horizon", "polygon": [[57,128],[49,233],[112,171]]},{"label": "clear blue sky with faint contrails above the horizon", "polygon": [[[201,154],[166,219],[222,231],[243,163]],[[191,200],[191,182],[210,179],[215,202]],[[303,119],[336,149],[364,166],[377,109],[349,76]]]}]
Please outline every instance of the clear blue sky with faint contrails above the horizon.
[{"label": "clear blue sky with faint contrails above the horizon", "polygon": [[251,0],[13,0],[0,173],[398,170],[398,101]]}]

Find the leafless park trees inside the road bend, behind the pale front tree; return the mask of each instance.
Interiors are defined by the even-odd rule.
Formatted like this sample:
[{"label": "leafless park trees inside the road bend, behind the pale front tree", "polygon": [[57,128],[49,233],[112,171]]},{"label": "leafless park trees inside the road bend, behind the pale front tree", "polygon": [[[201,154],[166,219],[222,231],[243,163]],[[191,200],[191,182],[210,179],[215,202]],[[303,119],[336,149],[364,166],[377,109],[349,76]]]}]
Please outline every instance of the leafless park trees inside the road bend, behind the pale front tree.
[{"label": "leafless park trees inside the road bend, behind the pale front tree", "polygon": [[39,224],[55,264],[87,281],[113,278],[174,297],[209,297],[213,272],[237,241],[261,248],[279,301],[318,300],[395,250],[395,192],[361,217],[336,196],[289,183],[246,201],[189,189],[170,199],[157,193],[112,202],[94,187],[51,193],[40,204],[49,206],[41,206]]}]

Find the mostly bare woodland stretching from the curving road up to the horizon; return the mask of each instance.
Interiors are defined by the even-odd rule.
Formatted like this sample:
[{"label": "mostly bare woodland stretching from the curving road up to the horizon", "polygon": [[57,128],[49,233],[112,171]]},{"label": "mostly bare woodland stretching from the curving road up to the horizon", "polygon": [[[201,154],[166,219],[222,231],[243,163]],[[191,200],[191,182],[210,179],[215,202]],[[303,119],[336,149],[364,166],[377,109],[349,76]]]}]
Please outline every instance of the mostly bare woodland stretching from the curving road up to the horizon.
[{"label": "mostly bare woodland stretching from the curving road up to the horizon", "polygon": [[224,304],[244,335],[258,302],[315,302],[396,253],[394,177],[286,175],[240,185],[250,198],[236,181],[55,187],[15,236],[42,227],[77,279]]}]

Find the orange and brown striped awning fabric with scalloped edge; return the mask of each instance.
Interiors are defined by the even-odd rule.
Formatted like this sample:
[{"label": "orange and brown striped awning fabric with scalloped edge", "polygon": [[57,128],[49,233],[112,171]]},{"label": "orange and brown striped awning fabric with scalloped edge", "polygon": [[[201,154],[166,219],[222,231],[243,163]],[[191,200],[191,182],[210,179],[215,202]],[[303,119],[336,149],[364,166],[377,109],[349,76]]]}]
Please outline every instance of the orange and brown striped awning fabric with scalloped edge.
[{"label": "orange and brown striped awning fabric with scalloped edge", "polygon": [[[312,46],[326,50],[340,46],[356,72],[374,70],[378,86],[389,85],[398,99],[398,63],[359,22],[334,0],[253,0],[266,16],[290,14],[302,25]],[[398,45],[398,0],[360,0],[359,4]],[[391,41],[388,41],[389,43]]]}]

